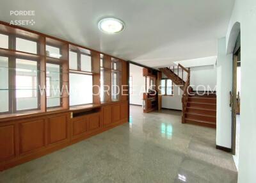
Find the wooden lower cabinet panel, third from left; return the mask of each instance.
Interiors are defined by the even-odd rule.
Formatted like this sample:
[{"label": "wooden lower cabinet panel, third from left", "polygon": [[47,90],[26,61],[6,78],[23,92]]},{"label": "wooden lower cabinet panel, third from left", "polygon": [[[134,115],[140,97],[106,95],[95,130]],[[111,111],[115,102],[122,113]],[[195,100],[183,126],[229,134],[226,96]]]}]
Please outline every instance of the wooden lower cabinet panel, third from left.
[{"label": "wooden lower cabinet panel, third from left", "polygon": [[49,118],[49,143],[67,139],[67,116],[53,116]]}]

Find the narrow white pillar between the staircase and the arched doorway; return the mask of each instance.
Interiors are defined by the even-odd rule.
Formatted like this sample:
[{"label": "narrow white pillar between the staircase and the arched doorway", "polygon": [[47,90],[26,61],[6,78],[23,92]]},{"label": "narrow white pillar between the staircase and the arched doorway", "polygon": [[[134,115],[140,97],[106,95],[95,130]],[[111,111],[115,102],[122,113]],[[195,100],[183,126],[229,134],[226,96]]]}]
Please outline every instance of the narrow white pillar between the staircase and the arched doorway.
[{"label": "narrow white pillar between the staircase and the arched doorway", "polygon": [[226,39],[218,40],[216,145],[231,148],[232,54],[226,54]]}]

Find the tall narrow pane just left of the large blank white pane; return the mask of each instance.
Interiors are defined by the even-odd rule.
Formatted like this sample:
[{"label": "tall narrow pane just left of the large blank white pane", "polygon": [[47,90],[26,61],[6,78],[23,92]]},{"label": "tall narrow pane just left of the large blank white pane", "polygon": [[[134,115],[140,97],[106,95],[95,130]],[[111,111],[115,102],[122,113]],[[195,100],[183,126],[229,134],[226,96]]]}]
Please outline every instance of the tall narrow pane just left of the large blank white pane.
[{"label": "tall narrow pane just left of the large blank white pane", "polygon": [[61,106],[60,65],[46,63],[47,107]]}]

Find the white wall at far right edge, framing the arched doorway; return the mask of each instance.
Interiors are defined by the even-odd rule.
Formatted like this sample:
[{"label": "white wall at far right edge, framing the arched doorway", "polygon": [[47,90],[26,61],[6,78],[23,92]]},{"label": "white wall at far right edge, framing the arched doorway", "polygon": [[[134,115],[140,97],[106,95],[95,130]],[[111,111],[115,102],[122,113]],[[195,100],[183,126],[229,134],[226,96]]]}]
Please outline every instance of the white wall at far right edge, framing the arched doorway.
[{"label": "white wall at far right edge, framing the arched doorway", "polygon": [[239,183],[255,182],[256,164],[256,1],[236,0],[227,32],[230,51],[232,28],[241,23],[241,129],[239,145]]}]

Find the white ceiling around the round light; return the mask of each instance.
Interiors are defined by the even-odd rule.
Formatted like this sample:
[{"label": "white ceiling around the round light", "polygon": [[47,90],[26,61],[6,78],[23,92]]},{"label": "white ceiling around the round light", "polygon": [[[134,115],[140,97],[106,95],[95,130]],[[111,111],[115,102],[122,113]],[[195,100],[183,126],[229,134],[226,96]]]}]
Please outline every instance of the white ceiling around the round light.
[{"label": "white ceiling around the round light", "polygon": [[[26,26],[113,56],[157,67],[215,56],[225,36],[234,0],[1,0],[0,20],[35,20]],[[35,10],[34,17],[10,10]],[[102,17],[125,22],[118,35],[97,28]]]}]

